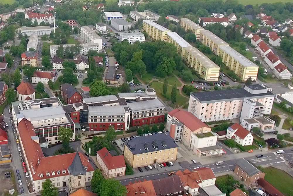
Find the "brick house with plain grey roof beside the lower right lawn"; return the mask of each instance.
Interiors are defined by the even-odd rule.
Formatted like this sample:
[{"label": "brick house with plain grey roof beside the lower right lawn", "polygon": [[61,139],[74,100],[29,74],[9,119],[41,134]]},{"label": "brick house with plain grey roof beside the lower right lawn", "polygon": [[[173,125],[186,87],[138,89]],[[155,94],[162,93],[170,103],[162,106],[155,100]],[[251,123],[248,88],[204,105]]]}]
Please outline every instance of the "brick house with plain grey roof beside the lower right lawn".
[{"label": "brick house with plain grey roof beside the lower right lawn", "polygon": [[260,178],[265,177],[265,173],[259,171],[253,164],[246,159],[242,158],[236,162],[234,174],[241,180],[246,186],[254,186]]}]

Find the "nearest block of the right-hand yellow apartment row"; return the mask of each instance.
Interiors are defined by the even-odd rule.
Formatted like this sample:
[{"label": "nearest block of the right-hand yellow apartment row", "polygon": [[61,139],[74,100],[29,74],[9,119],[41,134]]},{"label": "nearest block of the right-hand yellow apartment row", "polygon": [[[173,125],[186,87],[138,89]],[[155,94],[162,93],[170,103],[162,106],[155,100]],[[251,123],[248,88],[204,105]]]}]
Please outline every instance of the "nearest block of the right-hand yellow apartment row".
[{"label": "nearest block of the right-hand yellow apartment row", "polygon": [[247,80],[251,77],[256,80],[258,74],[258,66],[245,56],[227,45],[219,46],[219,56],[222,57],[222,62],[233,71],[241,80]]}]

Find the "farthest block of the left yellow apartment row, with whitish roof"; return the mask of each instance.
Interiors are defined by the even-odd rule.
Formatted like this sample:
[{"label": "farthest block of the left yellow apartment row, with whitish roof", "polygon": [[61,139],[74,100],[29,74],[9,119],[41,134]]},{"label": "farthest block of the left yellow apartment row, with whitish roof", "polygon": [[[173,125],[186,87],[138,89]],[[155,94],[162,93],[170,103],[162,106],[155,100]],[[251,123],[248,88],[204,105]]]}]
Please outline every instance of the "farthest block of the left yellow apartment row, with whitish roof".
[{"label": "farthest block of the left yellow apartment row, with whitish roof", "polygon": [[151,37],[154,40],[161,40],[166,41],[167,40],[167,32],[170,32],[165,27],[162,27],[161,25],[151,21],[151,20],[144,20],[143,21],[143,31],[147,32],[148,36]]}]

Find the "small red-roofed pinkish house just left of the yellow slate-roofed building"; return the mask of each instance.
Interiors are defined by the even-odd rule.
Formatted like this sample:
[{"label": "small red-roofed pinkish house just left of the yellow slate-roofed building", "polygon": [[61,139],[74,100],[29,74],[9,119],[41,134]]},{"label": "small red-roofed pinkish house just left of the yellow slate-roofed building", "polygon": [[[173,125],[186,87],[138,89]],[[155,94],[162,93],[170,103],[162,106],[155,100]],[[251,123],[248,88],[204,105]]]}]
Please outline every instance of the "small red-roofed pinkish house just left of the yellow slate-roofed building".
[{"label": "small red-roofed pinkish house just left of the yellow slate-roofed building", "polygon": [[97,151],[97,161],[108,178],[124,176],[126,165],[123,155],[112,156],[106,147]]}]

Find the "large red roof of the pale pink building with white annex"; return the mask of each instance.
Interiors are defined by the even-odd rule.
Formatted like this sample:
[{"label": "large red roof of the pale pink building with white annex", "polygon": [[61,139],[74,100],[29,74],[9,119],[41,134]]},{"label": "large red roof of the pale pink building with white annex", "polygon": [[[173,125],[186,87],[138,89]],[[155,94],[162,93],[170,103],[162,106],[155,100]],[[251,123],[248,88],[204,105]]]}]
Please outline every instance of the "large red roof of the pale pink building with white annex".
[{"label": "large red roof of the pale pink building with white annex", "polygon": [[[188,111],[185,110],[180,110],[180,109],[175,109],[177,112],[173,113],[171,111],[170,113],[172,116],[175,116],[181,123],[183,123],[185,126],[187,126],[191,131],[198,130],[202,127],[207,127],[209,128],[208,125],[203,123],[200,119],[195,117],[193,114],[191,114]],[[169,115],[170,115],[169,113]]]}]

